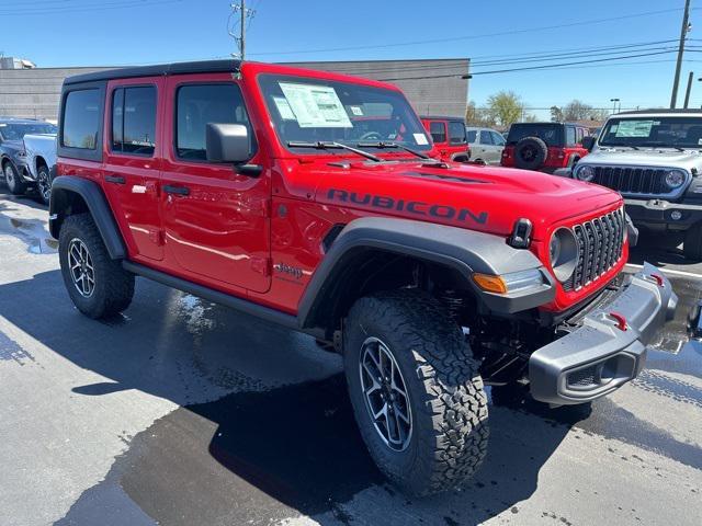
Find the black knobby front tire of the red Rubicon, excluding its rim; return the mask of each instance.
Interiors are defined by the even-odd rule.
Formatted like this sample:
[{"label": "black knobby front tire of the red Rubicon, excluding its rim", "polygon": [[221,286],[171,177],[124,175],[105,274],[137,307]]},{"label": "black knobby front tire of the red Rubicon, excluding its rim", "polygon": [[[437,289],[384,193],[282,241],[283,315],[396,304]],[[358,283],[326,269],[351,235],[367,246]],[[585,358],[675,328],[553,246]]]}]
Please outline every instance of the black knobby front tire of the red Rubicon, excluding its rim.
[{"label": "black knobby front tire of the red Rubicon, excluding its rim", "polygon": [[[370,339],[385,344],[406,385],[411,431],[401,450],[376,428],[363,391],[360,361]],[[414,290],[359,299],[344,324],[343,351],[361,435],[392,482],[406,493],[427,495],[473,476],[487,453],[487,398],[478,363],[437,300]]]}]

